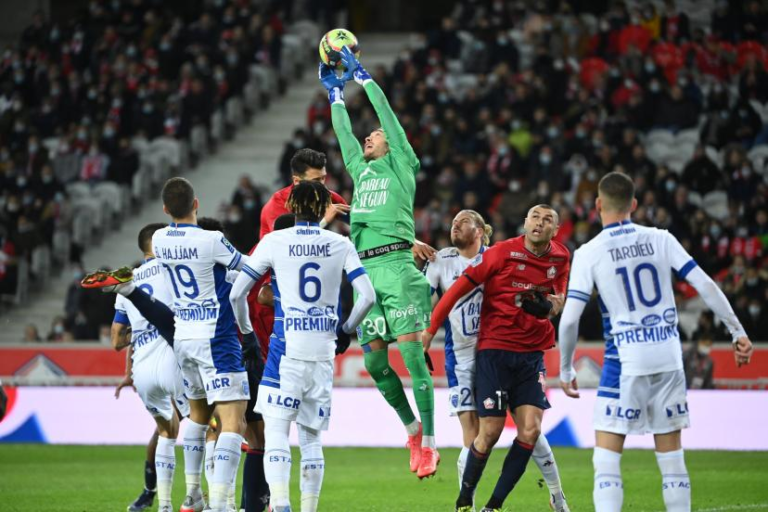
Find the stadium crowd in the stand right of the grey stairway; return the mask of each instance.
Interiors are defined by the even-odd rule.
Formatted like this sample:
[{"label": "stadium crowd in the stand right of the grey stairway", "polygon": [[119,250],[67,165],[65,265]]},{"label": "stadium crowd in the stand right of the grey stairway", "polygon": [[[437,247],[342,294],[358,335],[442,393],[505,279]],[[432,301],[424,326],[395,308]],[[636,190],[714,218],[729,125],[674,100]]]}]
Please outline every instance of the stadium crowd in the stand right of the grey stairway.
[{"label": "stadium crowd in the stand right of the grey stairway", "polygon": [[[374,70],[421,159],[417,236],[450,245],[453,215],[472,208],[502,240],[549,203],[575,249],[600,229],[599,179],[622,170],[637,184],[635,221],[678,237],[752,339],[768,340],[768,14],[757,1],[688,2],[694,23],[672,0],[612,2],[599,15],[575,4],[464,0],[392,69]],[[362,94],[346,103],[362,139],[373,109]],[[327,153],[328,184],[349,201],[324,92],[286,144],[284,182],[304,146]],[[704,335],[695,292],[677,293],[683,334]],[[599,325],[582,322],[581,334],[600,339]]]}]

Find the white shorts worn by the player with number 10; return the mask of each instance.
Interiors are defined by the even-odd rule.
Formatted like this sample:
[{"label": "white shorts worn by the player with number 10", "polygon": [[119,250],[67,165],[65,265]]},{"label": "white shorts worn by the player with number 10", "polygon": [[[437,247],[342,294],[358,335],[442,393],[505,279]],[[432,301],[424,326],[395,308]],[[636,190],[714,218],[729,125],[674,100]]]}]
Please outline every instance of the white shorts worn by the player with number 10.
[{"label": "white shorts worn by the player with number 10", "polygon": [[668,434],[690,426],[683,370],[619,376],[618,393],[598,388],[595,430],[614,434]]}]

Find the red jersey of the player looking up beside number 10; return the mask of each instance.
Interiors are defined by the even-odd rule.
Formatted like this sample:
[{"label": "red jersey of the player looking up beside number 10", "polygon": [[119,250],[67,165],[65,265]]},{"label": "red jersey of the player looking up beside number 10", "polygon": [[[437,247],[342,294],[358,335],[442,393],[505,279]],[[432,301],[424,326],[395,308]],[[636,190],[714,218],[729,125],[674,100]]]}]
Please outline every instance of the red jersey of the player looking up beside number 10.
[{"label": "red jersey of the player looking up beside number 10", "polygon": [[520,294],[539,291],[564,294],[568,288],[570,253],[554,240],[537,256],[525,248],[525,236],[499,242],[477,255],[464,271],[473,285],[485,285],[477,349],[535,352],[555,346],[549,319],[520,308]]}]

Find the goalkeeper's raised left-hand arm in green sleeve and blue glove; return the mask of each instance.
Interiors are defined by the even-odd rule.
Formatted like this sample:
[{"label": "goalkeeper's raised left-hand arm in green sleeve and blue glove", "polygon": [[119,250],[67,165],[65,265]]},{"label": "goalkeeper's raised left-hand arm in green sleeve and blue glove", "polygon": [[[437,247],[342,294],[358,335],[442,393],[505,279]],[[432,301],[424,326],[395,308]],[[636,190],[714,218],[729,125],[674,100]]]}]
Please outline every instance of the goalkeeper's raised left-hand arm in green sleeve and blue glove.
[{"label": "goalkeeper's raised left-hand arm in green sleeve and blue glove", "polygon": [[[351,75],[347,75],[348,79]],[[344,104],[345,77],[339,78],[336,72],[327,65],[320,63],[318,71],[320,83],[328,91],[328,101],[331,102],[331,122],[336,138],[339,139],[341,157],[344,166],[353,177],[365,167],[363,148],[352,132],[352,121],[349,119],[347,107]]]}]

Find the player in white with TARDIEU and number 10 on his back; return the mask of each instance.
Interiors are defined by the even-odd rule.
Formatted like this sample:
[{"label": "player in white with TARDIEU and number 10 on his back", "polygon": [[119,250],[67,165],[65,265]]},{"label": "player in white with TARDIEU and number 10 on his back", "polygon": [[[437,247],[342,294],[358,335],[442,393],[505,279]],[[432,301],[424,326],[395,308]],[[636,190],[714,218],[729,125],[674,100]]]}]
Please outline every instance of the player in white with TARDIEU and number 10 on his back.
[{"label": "player in white with TARDIEU and number 10 on his back", "polygon": [[560,380],[578,398],[573,352],[579,318],[597,288],[606,331],[606,359],[595,404],[593,456],[597,512],[621,510],[621,452],[627,434],[654,435],[667,510],[691,509],[681,443],[687,428],[682,348],[672,274],[685,279],[733,337],[736,363],[748,364],[752,343],[725,295],[669,232],[630,220],[637,207],[632,180],[612,172],[600,180],[597,211],[603,231],[574,254],[560,320]]}]

